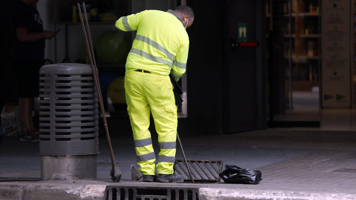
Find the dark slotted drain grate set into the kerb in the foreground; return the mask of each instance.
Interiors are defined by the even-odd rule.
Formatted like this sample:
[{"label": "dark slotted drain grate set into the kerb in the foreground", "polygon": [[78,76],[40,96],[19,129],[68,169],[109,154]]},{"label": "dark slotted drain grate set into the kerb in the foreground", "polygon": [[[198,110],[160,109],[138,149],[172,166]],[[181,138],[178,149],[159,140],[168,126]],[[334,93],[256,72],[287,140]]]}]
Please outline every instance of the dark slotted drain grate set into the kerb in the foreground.
[{"label": "dark slotted drain grate set into the kerb in the foreground", "polygon": [[105,200],[199,200],[198,188],[130,187],[108,185]]}]

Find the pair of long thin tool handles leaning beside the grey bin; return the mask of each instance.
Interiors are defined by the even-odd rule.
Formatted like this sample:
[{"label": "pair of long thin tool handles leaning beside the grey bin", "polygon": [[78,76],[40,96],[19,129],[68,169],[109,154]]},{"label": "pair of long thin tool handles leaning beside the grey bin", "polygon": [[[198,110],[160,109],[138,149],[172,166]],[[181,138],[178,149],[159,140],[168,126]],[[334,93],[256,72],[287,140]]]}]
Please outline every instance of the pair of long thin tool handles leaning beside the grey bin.
[{"label": "pair of long thin tool handles leaning beside the grey bin", "polygon": [[[83,2],[82,4],[83,4],[83,10],[84,10],[84,13],[85,13],[85,23],[87,24],[88,35],[87,35],[87,32],[85,31],[82,11],[80,9],[80,4],[78,3],[77,6],[78,6],[78,10],[79,10],[79,17],[80,17],[80,21],[82,22],[82,28],[83,28],[83,32],[84,32],[85,43],[87,44],[88,56],[89,56],[89,60],[90,60],[90,63],[91,63],[91,69],[93,70],[93,75],[94,75],[94,80],[95,80],[95,87],[96,87],[96,90],[98,91],[98,98],[99,98],[99,104],[100,104],[100,109],[101,109],[101,115],[103,116],[106,137],[108,138],[108,143],[109,143],[111,164],[112,164],[112,166],[116,166],[115,158],[114,158],[114,152],[112,151],[112,146],[111,146],[111,141],[110,141],[110,136],[109,136],[108,123],[106,121],[106,115],[105,115],[105,109],[104,109],[104,103],[103,103],[103,96],[101,95],[101,88],[100,88],[100,83],[99,83],[99,78],[98,78],[98,71],[97,71],[97,68],[96,68],[93,43],[91,42],[91,35],[90,35],[87,11],[85,9],[85,3]],[[89,36],[89,40],[88,40],[88,36]]]}]

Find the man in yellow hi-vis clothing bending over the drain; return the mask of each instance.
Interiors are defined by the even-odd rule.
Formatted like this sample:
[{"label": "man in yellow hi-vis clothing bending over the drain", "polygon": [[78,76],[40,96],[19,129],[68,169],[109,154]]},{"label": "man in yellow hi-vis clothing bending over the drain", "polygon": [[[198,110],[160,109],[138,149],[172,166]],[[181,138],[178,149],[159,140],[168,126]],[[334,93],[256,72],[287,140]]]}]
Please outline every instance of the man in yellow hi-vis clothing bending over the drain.
[{"label": "man in yellow hi-vis clothing bending over the drain", "polygon": [[[115,23],[122,31],[137,30],[126,60],[125,95],[137,164],[145,182],[183,182],[183,176],[174,174],[173,170],[178,120],[169,74],[178,81],[185,72],[189,48],[185,29],[193,20],[193,9],[183,5],[167,12],[145,10],[121,17]],[[158,175],[155,175],[156,156],[148,131],[150,112],[161,148]]]}]

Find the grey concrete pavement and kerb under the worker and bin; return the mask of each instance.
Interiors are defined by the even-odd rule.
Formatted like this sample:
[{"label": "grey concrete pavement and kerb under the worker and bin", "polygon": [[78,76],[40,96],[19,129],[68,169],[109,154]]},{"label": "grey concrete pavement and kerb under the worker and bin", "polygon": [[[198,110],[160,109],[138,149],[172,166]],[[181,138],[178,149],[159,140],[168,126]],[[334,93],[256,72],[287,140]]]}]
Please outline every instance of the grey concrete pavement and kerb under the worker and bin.
[{"label": "grey concrete pavement and kerb under the worker and bin", "polygon": [[[115,184],[108,177],[106,138],[100,139],[95,181],[39,181],[38,143],[5,140],[0,147],[0,180],[16,182],[0,182],[0,199],[101,199],[107,185],[162,186],[130,181],[130,165],[135,163],[132,136],[112,135],[115,157],[124,174],[121,183]],[[268,129],[180,137],[188,159],[223,160],[224,164],[262,172],[258,185],[168,184],[199,188],[199,199],[356,199],[354,132]],[[157,137],[152,141],[158,154]],[[182,158],[179,149],[177,158]]]}]

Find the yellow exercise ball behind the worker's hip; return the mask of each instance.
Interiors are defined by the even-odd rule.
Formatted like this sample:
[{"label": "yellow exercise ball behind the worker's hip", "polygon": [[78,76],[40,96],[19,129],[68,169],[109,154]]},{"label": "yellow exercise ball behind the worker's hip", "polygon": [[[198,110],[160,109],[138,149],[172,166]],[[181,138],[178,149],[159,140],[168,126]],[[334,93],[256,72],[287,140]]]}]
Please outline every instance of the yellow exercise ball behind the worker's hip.
[{"label": "yellow exercise ball behind the worker's hip", "polygon": [[114,104],[126,104],[124,80],[125,77],[117,77],[109,85],[108,97]]}]

